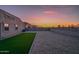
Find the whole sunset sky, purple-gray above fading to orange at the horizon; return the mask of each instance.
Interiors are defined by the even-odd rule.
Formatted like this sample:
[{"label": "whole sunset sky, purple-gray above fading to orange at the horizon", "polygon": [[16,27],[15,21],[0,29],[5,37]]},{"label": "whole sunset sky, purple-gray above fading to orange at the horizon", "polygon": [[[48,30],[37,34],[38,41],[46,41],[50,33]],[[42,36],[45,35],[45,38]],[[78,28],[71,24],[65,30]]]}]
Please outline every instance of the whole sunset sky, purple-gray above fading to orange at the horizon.
[{"label": "whole sunset sky, purple-gray above fading to orange at the horizon", "polygon": [[79,23],[79,6],[58,6],[58,5],[13,5],[0,6],[15,16],[21,18],[32,25],[37,26],[56,26],[70,25]]}]

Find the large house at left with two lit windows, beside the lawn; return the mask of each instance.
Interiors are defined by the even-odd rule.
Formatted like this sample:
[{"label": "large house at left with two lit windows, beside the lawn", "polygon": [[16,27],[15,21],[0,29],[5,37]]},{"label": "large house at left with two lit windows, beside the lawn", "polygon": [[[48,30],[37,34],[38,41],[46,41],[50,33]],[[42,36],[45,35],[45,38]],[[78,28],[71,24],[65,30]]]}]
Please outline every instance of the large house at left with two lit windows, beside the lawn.
[{"label": "large house at left with two lit windows, beside the lawn", "polygon": [[0,40],[19,34],[23,29],[20,18],[0,9]]}]

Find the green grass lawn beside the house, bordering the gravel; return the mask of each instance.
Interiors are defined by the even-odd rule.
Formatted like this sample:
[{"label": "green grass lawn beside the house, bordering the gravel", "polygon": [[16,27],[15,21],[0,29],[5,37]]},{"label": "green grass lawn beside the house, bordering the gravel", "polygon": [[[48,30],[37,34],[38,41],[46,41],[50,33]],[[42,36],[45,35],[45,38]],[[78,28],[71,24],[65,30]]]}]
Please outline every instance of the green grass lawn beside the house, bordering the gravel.
[{"label": "green grass lawn beside the house, bordering the gravel", "polygon": [[0,41],[0,53],[25,54],[28,53],[36,33],[22,33]]}]

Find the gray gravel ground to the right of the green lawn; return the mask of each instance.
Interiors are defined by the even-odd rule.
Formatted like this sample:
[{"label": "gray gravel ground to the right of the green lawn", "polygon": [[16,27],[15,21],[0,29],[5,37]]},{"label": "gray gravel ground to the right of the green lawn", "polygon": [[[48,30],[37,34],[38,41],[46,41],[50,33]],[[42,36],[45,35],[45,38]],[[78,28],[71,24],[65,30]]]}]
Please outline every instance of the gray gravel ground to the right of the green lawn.
[{"label": "gray gravel ground to the right of the green lawn", "polygon": [[38,31],[29,54],[76,54],[79,38],[50,31]]}]

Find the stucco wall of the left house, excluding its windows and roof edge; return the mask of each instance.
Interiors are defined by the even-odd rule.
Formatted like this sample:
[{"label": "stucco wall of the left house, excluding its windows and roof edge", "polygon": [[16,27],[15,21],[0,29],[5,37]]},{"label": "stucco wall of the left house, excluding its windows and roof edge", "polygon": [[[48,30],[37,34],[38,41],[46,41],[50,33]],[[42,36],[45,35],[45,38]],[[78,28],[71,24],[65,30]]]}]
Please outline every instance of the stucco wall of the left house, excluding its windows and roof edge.
[{"label": "stucco wall of the left house, excluding its windows and roof edge", "polygon": [[[14,36],[14,35],[21,33],[22,30],[24,29],[23,22],[15,16],[12,16],[12,15],[6,14],[6,13],[4,14],[4,13],[1,13],[1,15],[0,15],[1,37],[4,39],[4,38],[11,37],[11,36]],[[7,17],[7,15],[9,17]],[[4,24],[9,24],[9,30],[8,31],[5,31]],[[17,30],[15,29],[15,24],[18,25]]]}]

